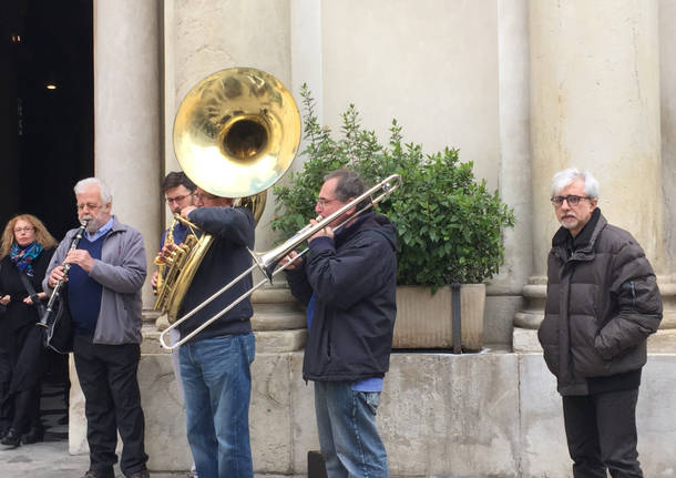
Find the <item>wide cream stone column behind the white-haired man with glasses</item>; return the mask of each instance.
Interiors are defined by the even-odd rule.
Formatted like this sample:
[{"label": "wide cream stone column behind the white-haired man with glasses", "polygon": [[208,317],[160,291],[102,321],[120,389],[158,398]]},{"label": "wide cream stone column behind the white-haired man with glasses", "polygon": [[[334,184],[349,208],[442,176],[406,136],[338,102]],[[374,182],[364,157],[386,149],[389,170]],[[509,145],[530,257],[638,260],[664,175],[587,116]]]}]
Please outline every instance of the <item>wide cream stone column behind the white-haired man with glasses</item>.
[{"label": "wide cream stone column behind the white-haired man with glasses", "polygon": [[533,276],[518,326],[535,328],[543,316],[546,256],[559,227],[550,183],[565,167],[596,176],[608,222],[637,238],[658,275],[666,272],[657,3],[530,3]]}]

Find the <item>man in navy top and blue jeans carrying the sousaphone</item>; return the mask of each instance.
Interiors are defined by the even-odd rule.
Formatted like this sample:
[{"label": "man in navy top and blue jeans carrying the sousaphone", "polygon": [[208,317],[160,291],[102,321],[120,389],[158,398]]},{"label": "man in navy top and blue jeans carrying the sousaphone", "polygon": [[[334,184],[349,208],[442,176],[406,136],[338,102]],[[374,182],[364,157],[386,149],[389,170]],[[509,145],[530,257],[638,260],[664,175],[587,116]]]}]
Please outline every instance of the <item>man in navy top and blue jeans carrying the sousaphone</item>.
[{"label": "man in navy top and blue jeans carrying the sousaphone", "polygon": [[[185,294],[180,317],[249,268],[247,247],[254,247],[249,209],[232,207],[232,199],[199,187],[195,200],[197,207],[184,207],[181,214],[212,234],[213,243]],[[250,288],[249,274],[180,325],[181,336],[194,332]],[[187,439],[199,477],[254,475],[248,427],[249,367],[255,356],[253,313],[246,298],[180,347]]]}]

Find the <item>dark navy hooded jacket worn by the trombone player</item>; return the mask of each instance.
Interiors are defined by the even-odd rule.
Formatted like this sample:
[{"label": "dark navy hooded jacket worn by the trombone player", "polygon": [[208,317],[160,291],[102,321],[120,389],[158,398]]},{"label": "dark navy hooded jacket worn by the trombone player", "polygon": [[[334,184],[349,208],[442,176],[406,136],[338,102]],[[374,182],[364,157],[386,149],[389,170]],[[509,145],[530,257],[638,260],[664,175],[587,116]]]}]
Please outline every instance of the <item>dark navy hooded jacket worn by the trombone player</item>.
[{"label": "dark navy hooded jacket worn by the trombone player", "polygon": [[397,234],[385,216],[368,213],[309,246],[304,267],[287,274],[315,313],[303,363],[306,380],[358,380],[389,369],[397,316]]}]

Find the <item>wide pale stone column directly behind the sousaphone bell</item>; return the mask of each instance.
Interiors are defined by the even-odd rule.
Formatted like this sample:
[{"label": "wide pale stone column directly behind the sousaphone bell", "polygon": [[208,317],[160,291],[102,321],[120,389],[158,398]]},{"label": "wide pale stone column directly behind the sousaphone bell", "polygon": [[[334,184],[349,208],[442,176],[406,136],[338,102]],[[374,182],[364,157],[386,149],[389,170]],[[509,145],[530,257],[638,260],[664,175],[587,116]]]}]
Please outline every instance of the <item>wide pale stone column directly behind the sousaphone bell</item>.
[{"label": "wide pale stone column directly behind the sousaphone bell", "polygon": [[[304,6],[297,1],[239,0],[184,2],[165,0],[164,64],[165,64],[165,156],[167,171],[178,169],[171,138],[174,115],[187,92],[206,75],[235,68],[257,68],[275,75],[291,89],[291,10],[294,23],[318,21],[313,10],[310,19],[301,17]],[[256,31],[252,31],[256,26]],[[310,49],[311,50],[311,49]],[[315,72],[318,77],[319,73]],[[298,92],[294,91],[298,102]],[[273,192],[268,191],[267,206],[256,227],[256,251],[270,248],[275,237],[269,222],[275,210]],[[262,279],[254,274],[254,284]],[[296,301],[284,287],[284,277],[276,279],[279,287],[263,287],[254,294],[253,326],[257,352],[296,350],[305,343],[305,318],[296,309]]]}]

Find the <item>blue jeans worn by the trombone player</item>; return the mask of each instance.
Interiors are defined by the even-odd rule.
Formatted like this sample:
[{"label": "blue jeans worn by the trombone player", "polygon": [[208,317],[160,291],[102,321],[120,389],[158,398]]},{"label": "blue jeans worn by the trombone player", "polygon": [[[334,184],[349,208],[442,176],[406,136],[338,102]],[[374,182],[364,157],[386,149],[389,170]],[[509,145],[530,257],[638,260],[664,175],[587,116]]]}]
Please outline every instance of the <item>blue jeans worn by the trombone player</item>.
[{"label": "blue jeans worn by the trombone player", "polygon": [[349,382],[315,382],[315,413],[329,478],[388,477],[378,434],[380,391],[355,391]]}]

